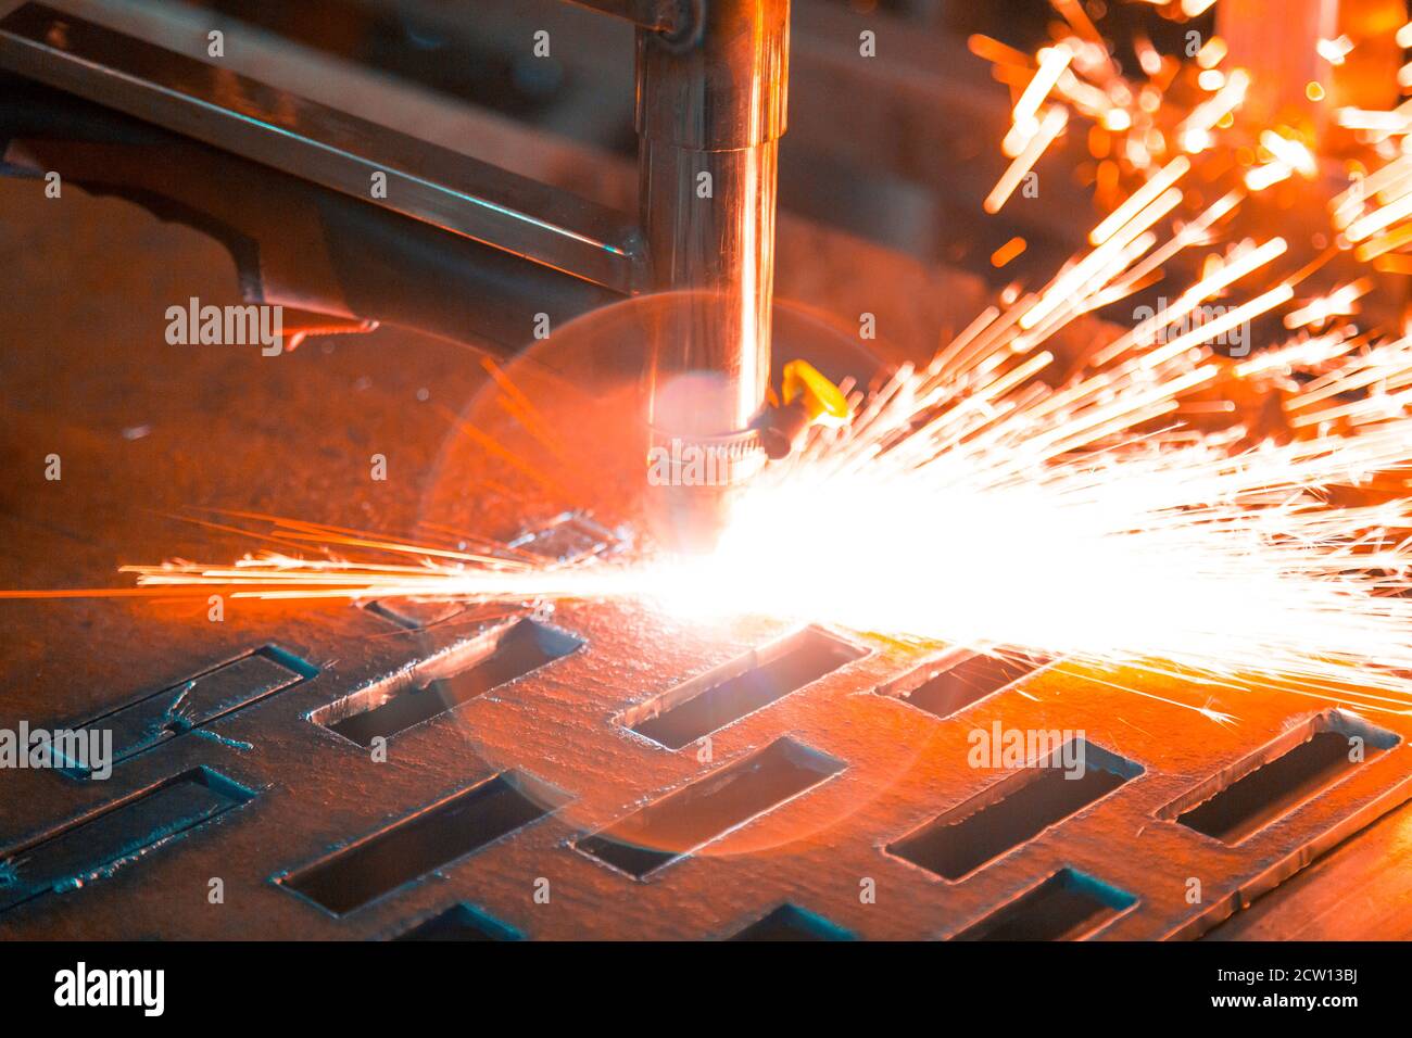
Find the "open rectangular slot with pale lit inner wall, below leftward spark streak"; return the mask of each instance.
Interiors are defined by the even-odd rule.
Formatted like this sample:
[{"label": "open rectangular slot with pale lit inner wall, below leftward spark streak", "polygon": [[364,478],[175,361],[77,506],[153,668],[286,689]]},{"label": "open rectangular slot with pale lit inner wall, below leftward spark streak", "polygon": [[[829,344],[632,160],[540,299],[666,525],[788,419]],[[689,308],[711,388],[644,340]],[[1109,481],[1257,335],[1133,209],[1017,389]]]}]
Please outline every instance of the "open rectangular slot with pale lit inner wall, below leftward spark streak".
[{"label": "open rectangular slot with pale lit inner wall, below leftward spark streak", "polygon": [[535,620],[517,620],[315,710],[309,720],[370,746],[377,737],[387,739],[431,720],[582,645],[580,638],[565,631]]}]

